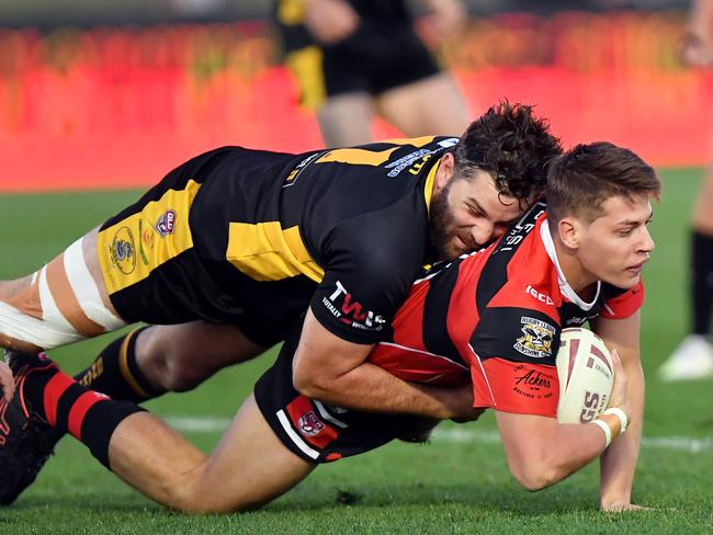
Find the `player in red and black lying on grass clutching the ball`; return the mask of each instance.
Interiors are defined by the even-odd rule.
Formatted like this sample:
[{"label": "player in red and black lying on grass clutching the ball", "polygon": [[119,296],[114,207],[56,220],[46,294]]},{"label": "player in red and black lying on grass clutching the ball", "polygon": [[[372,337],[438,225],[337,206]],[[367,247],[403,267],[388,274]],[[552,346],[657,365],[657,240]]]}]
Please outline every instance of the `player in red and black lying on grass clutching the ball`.
[{"label": "player in red and black lying on grass clutching the ball", "polygon": [[[551,169],[548,216],[535,205],[496,244],[417,281],[389,340],[365,366],[414,382],[472,380],[473,406],[495,409],[510,470],[525,488],[559,481],[606,452],[602,509],[635,508],[641,272],[654,248],[646,227],[649,200],[659,192],[653,169],[632,152],[610,144],[575,148]],[[610,406],[626,417],[558,424],[559,332],[588,320],[622,356],[623,366],[614,357]],[[265,503],[316,464],[372,449],[420,423],[301,395],[293,382],[298,387],[304,379],[292,366],[301,357],[299,334],[297,326],[210,456],[139,407],[87,389],[48,361],[14,354],[19,394],[3,403],[12,425],[0,464],[22,466],[47,434],[69,431],[156,501],[181,511],[225,512]],[[608,447],[629,417],[631,431]]]}]

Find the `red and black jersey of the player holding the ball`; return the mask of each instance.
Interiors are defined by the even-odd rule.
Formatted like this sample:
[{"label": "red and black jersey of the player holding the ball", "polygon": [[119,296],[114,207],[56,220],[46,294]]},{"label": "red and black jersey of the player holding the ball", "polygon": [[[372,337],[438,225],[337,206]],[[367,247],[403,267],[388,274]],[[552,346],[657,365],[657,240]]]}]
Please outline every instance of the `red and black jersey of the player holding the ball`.
[{"label": "red and black jersey of the player holding the ball", "polygon": [[463,255],[414,283],[372,363],[406,380],[440,385],[469,378],[474,406],[555,417],[555,357],[564,327],[597,316],[621,319],[644,287],[599,282],[585,303],[559,270],[545,204],[531,208],[489,248]]}]

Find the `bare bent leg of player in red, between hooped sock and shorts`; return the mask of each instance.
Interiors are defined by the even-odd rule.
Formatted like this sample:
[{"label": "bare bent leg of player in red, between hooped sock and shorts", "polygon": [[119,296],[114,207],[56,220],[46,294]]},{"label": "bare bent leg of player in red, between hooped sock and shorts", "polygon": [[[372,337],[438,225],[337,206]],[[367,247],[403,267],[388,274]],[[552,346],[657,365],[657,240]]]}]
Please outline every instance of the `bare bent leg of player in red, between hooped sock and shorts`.
[{"label": "bare bent leg of player in red, between hooped sock and shorts", "polygon": [[210,456],[147,412],[132,414],[116,428],[109,455],[112,471],[132,487],[194,513],[254,509],[314,469],[280,443],[252,396]]}]

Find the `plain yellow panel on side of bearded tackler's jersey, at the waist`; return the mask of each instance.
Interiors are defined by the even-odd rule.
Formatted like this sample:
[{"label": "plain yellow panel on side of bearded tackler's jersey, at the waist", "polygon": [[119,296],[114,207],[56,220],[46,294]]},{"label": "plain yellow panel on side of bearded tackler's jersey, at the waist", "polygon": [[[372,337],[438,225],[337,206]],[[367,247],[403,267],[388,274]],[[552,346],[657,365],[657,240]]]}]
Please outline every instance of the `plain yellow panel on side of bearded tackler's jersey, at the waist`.
[{"label": "plain yellow panel on side of bearded tackler's jersey, at the waist", "polygon": [[321,282],[325,271],[313,260],[299,229],[279,221],[231,223],[226,259],[256,281],[281,281],[305,275]]}]

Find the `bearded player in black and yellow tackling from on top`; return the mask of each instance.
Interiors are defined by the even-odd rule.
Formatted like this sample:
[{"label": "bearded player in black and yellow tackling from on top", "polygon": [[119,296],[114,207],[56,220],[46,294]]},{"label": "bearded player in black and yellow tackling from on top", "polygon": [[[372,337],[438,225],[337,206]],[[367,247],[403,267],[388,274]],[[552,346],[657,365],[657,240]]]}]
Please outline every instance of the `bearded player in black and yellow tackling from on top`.
[{"label": "bearded player in black and yellow tackling from on top", "polygon": [[[111,343],[81,374],[138,402],[254,357],[308,310],[303,394],[468,418],[467,388],[414,386],[363,363],[421,265],[500,236],[542,194],[558,153],[529,106],[502,103],[461,139],[199,156],[35,274],[0,282],[0,345],[47,349],[163,323]],[[36,453],[37,469],[52,446]]]}]

